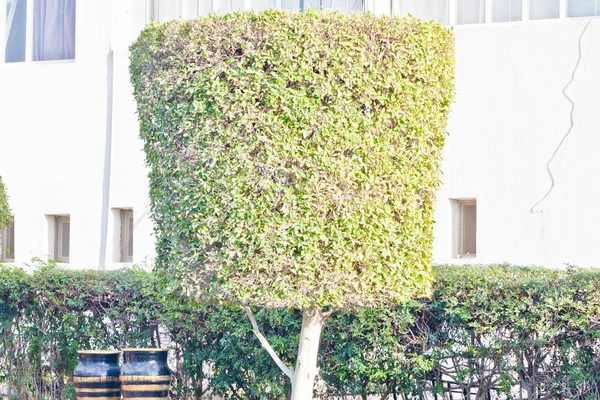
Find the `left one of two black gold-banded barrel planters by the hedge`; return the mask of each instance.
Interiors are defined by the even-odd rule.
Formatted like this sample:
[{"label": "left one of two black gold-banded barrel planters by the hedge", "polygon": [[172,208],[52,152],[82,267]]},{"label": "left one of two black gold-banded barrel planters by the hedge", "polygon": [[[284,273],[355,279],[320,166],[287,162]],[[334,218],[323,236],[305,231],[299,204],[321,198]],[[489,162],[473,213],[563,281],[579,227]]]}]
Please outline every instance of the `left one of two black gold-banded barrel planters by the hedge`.
[{"label": "left one of two black gold-banded barrel planters by the hedge", "polygon": [[79,351],[79,364],[73,373],[77,400],[120,400],[119,351]]}]

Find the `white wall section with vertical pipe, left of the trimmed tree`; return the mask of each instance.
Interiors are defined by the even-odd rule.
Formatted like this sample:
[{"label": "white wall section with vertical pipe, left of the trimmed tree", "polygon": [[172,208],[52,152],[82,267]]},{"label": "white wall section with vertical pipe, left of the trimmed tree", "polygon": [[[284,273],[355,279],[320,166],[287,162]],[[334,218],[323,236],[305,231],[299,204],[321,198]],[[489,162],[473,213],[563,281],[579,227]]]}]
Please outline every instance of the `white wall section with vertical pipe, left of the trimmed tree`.
[{"label": "white wall section with vertical pipe, left of the trimmed tree", "polygon": [[115,208],[134,210],[134,263],[154,254],[124,3],[77,2],[75,60],[0,65],[0,174],[15,216],[15,263],[52,254],[46,215],[69,214],[69,266],[118,266]]}]

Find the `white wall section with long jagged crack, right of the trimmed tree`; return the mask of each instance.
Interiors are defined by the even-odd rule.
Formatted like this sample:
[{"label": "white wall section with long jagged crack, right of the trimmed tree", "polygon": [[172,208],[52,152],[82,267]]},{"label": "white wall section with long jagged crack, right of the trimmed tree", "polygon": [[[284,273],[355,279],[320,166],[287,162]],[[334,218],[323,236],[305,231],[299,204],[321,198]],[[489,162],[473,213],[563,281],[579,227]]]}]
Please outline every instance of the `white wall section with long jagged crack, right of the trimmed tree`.
[{"label": "white wall section with long jagged crack, right of the trimmed tree", "polygon": [[[455,28],[456,103],[443,186],[438,194],[434,258],[451,257],[452,198],[477,199],[476,262],[600,266],[600,19],[582,38],[582,58],[567,94],[588,18]],[[470,260],[471,262],[473,260]]]}]

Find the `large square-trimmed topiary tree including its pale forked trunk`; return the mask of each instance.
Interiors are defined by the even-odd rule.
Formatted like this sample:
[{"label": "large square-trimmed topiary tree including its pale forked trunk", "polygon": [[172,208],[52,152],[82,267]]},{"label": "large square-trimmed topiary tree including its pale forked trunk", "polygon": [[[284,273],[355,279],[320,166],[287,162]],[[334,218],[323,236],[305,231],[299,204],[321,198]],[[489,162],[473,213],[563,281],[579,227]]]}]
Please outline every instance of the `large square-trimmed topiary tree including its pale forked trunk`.
[{"label": "large square-trimmed topiary tree including its pale forked trunk", "polygon": [[[453,69],[449,29],[366,13],[212,15],[131,48],[157,268],[242,305],[292,399],[332,311],[429,293]],[[302,310],[295,368],[251,306]]]}]

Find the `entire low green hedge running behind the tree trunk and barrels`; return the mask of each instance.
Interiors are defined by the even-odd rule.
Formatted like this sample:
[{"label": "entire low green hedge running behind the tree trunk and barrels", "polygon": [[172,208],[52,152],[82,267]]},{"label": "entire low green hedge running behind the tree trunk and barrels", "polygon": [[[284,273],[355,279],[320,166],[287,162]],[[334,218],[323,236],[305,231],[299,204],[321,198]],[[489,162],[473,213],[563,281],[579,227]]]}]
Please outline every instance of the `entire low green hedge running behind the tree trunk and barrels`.
[{"label": "entire low green hedge running behind the tree trunk and barrels", "polygon": [[[434,271],[429,300],[331,317],[318,398],[442,393],[450,378],[471,399],[507,398],[511,388],[513,399],[600,398],[599,271]],[[0,267],[0,390],[9,384],[10,400],[72,399],[77,350],[169,346],[174,399],[207,390],[226,399],[286,398],[289,381],[243,312],[173,298],[159,287],[141,270]],[[295,357],[296,313],[257,312],[287,362]]]}]

